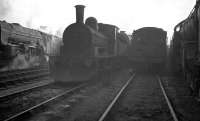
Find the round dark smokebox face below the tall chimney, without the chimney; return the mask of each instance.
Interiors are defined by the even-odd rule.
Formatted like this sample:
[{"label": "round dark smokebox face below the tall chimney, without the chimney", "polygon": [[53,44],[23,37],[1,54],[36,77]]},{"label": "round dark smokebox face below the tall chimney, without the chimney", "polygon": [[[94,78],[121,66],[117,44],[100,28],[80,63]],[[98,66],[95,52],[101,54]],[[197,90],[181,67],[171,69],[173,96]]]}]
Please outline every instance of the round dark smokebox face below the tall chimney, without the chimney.
[{"label": "round dark smokebox face below the tall chimney, without the chimney", "polygon": [[92,46],[90,30],[82,23],[75,23],[67,27],[63,34],[64,56],[85,57]]}]

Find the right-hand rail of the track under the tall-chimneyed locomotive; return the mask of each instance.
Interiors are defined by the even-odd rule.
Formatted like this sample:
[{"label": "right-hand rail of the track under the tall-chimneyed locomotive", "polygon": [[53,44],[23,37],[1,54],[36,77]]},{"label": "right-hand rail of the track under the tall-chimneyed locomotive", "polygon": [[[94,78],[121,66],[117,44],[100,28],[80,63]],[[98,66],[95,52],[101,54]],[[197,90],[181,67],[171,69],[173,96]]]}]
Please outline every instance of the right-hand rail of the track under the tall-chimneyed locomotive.
[{"label": "right-hand rail of the track under the tall-chimneyed locomotive", "polygon": [[47,100],[45,100],[45,101],[43,101],[43,102],[41,102],[41,103],[39,103],[39,104],[37,104],[35,106],[32,106],[32,107],[30,107],[30,108],[28,108],[28,109],[26,109],[24,111],[18,112],[18,113],[14,114],[14,115],[6,118],[6,119],[3,119],[3,121],[22,120],[23,117],[26,117],[26,114],[28,114],[30,112],[33,112],[34,110],[40,110],[40,108],[42,109],[43,106],[48,105],[49,103],[53,103],[54,101],[56,102],[56,100],[59,101],[59,99],[61,97],[67,96],[69,94],[72,94],[73,92],[83,88],[86,85],[87,84],[79,84],[78,86],[74,86],[73,88],[67,89],[67,90],[63,91],[62,93],[60,93],[60,94],[58,94],[58,95],[56,95],[56,96],[54,96],[54,97],[52,97],[50,99],[47,99]]}]

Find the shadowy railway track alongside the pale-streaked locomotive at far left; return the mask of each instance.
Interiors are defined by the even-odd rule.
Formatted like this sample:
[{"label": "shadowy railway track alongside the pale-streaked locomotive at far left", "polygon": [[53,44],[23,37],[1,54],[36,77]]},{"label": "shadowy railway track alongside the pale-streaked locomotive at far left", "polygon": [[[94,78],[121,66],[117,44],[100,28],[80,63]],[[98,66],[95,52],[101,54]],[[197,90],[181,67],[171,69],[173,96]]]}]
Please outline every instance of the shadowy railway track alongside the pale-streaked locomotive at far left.
[{"label": "shadowy railway track alongside the pale-streaked locomotive at far left", "polygon": [[0,98],[45,86],[53,82],[48,66],[0,72]]}]

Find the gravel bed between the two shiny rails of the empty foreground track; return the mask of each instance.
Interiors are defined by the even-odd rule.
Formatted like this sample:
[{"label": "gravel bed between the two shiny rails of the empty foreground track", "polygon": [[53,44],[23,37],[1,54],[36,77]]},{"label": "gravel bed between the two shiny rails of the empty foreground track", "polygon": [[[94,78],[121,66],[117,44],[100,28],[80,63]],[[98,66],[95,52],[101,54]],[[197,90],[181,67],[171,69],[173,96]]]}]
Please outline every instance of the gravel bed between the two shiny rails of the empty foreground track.
[{"label": "gravel bed between the two shiny rails of the empty foreground track", "polygon": [[106,121],[172,121],[159,83],[152,75],[136,75]]}]

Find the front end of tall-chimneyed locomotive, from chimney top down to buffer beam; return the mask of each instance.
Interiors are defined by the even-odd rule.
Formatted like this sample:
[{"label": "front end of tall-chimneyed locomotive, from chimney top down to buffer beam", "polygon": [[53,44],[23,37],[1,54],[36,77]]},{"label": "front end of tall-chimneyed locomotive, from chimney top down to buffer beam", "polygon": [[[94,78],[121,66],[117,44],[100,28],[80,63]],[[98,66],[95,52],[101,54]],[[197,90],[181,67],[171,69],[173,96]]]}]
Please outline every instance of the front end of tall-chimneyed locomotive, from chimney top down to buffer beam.
[{"label": "front end of tall-chimneyed locomotive, from chimney top down to buffer beam", "polygon": [[54,70],[54,78],[65,82],[89,80],[94,73],[94,32],[84,24],[84,7],[77,5],[76,23],[69,25],[63,33],[63,46]]}]

